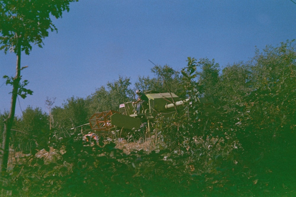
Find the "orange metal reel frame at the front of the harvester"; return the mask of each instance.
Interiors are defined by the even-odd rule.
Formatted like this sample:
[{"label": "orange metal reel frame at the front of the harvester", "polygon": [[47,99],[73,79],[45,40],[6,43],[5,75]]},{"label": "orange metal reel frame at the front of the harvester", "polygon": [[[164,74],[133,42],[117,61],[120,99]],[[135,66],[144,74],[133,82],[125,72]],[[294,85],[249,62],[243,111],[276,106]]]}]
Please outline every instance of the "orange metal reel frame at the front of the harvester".
[{"label": "orange metal reel frame at the front of the harvester", "polygon": [[89,125],[91,126],[91,129],[95,131],[107,131],[110,128],[113,128],[114,125],[111,125],[111,115],[114,113],[119,112],[110,110],[92,115],[91,118],[89,118]]}]

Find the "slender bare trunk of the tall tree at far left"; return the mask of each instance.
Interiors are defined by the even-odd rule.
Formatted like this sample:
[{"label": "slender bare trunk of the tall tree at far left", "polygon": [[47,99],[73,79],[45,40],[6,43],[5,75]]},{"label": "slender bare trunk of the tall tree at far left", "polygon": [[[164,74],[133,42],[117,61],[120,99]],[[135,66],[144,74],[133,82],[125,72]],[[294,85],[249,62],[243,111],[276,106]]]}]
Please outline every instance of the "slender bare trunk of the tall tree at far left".
[{"label": "slender bare trunk of the tall tree at far left", "polygon": [[16,51],[16,55],[17,55],[16,74],[15,74],[15,77],[13,78],[10,112],[8,117],[4,120],[3,143],[2,143],[1,157],[0,157],[0,172],[6,172],[7,170],[10,131],[12,128],[13,120],[15,118],[15,104],[17,101],[18,88],[20,86],[20,70],[21,70],[20,69],[20,55],[21,55],[20,44],[17,45],[16,50],[17,50]]}]

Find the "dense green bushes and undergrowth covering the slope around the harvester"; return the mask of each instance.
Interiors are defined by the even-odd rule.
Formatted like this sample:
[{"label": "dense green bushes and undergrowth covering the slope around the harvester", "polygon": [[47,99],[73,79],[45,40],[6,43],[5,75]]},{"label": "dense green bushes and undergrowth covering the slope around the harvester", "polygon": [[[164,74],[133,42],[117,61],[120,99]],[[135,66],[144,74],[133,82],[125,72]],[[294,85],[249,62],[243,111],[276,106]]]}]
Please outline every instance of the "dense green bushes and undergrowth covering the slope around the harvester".
[{"label": "dense green bushes and undergrowth covering the slope around the harvester", "polygon": [[[28,107],[12,136],[14,155],[22,157],[1,178],[1,196],[294,196],[294,46],[257,49],[249,62],[222,70],[207,58],[188,58],[181,72],[155,66],[155,77],[140,77],[135,87],[176,91],[189,101],[171,118],[158,116],[150,137],[134,143],[150,143],[147,150],[126,152],[118,139],[103,137],[83,142],[86,131],[70,130],[94,110],[130,101],[128,78],[52,108],[51,131],[48,116]],[[201,97],[214,104],[202,105]]]}]

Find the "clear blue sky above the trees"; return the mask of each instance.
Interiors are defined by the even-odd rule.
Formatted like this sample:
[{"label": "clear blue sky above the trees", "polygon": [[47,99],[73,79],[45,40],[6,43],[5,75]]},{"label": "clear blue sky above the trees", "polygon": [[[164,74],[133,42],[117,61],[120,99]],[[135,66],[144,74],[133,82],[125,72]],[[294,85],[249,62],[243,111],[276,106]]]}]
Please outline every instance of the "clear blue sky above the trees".
[{"label": "clear blue sky above the trees", "polygon": [[[294,1],[295,2],[295,1]],[[72,96],[86,98],[118,76],[153,76],[151,68],[180,71],[187,57],[215,59],[221,68],[255,55],[266,45],[296,38],[296,4],[291,0],[81,0],[53,19],[58,33],[22,53],[22,79],[34,91],[19,97],[16,115],[28,105],[46,111]],[[0,51],[0,113],[9,110],[16,56]],[[133,86],[131,86],[132,88]]]}]

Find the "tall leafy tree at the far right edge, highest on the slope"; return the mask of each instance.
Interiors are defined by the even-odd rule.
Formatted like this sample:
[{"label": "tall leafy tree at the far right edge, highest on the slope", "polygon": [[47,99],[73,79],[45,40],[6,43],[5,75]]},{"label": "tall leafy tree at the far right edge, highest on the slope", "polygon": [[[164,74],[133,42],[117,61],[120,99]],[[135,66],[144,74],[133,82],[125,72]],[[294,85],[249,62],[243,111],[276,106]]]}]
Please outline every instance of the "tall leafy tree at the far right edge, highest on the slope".
[{"label": "tall leafy tree at the far right edge, highest on the slope", "polygon": [[295,40],[278,47],[266,46],[262,52],[257,49],[250,64],[252,92],[247,100],[248,122],[266,143],[279,136],[293,136],[288,131],[295,131],[296,122]]}]

